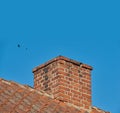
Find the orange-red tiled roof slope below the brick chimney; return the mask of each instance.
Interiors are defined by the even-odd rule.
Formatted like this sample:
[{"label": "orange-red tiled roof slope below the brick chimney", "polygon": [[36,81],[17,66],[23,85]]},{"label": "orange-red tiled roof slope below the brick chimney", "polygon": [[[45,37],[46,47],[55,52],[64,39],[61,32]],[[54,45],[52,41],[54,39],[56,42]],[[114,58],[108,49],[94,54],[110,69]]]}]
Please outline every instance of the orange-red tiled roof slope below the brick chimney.
[{"label": "orange-red tiled roof slope below the brick chimney", "polygon": [[81,113],[44,92],[0,79],[0,113]]}]

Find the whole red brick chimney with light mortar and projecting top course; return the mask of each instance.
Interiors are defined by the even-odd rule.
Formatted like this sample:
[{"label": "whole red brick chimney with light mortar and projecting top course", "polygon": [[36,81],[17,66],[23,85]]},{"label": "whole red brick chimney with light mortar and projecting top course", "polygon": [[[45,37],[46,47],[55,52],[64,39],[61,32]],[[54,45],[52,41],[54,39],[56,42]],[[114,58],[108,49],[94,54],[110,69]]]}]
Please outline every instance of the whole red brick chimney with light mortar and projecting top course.
[{"label": "whole red brick chimney with light mortar and projecting top course", "polygon": [[33,69],[34,88],[80,108],[91,107],[92,67],[58,56]]}]

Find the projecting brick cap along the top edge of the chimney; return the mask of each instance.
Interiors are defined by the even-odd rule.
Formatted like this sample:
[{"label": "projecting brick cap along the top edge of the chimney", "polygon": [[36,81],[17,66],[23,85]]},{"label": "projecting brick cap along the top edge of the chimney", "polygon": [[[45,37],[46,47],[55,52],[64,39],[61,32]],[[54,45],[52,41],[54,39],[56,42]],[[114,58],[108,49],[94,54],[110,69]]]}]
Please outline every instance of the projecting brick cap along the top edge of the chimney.
[{"label": "projecting brick cap along the top edge of the chimney", "polygon": [[49,65],[49,64],[51,64],[51,63],[53,63],[53,62],[56,62],[56,61],[58,61],[58,60],[64,60],[64,61],[73,63],[73,64],[78,65],[78,66],[81,65],[82,67],[87,68],[87,69],[90,69],[90,70],[93,69],[91,66],[89,66],[89,65],[87,65],[87,64],[83,64],[83,63],[81,63],[81,62],[78,62],[78,61],[76,61],[76,60],[72,60],[72,59],[67,58],[67,57],[64,57],[64,56],[58,56],[58,57],[56,57],[56,58],[54,58],[54,59],[52,59],[52,60],[49,60],[48,62],[40,65],[40,66],[35,67],[35,68],[33,69],[33,72],[35,72],[35,71],[37,71],[38,69],[41,69],[41,68],[43,68],[43,67],[45,67],[45,66],[47,66],[47,65]]}]

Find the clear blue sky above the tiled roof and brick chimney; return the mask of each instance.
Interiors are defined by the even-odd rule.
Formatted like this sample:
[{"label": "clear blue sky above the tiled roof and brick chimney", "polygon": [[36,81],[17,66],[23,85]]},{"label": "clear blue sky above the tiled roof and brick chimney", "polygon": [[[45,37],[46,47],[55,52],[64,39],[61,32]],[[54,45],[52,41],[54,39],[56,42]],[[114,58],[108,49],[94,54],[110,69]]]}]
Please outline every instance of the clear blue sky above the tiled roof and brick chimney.
[{"label": "clear blue sky above the tiled roof and brick chimney", "polygon": [[91,65],[93,105],[120,113],[119,0],[0,0],[0,78],[33,86],[58,55]]}]

